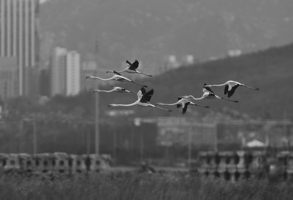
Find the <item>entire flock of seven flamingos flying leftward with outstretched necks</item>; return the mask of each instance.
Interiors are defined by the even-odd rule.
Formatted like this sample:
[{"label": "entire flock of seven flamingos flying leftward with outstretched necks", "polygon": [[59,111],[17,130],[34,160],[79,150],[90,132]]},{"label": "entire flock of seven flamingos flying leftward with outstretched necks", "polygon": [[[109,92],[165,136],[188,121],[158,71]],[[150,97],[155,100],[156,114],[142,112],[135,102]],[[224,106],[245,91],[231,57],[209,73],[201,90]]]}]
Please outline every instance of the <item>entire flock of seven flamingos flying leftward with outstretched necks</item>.
[{"label": "entire flock of seven flamingos flying leftward with outstretched necks", "polygon": [[114,73],[114,76],[112,78],[103,79],[103,78],[99,78],[99,77],[95,77],[95,76],[87,76],[86,78],[96,78],[96,79],[103,80],[103,81],[108,81],[108,80],[117,80],[117,81],[120,81],[120,82],[127,81],[127,82],[132,82],[132,83],[135,83],[137,85],[142,86],[142,88],[137,93],[132,92],[132,91],[128,91],[127,89],[122,88],[122,87],[113,87],[113,86],[112,86],[112,90],[94,90],[93,92],[119,92],[119,93],[127,93],[128,92],[128,93],[137,94],[138,100],[135,101],[134,103],[130,103],[130,104],[113,104],[112,103],[112,104],[109,104],[108,107],[110,107],[110,106],[134,106],[134,105],[138,105],[138,106],[142,106],[142,107],[159,108],[161,110],[166,110],[166,111],[172,112],[172,110],[161,108],[161,107],[158,107],[157,105],[160,105],[160,106],[174,106],[174,105],[176,105],[177,108],[180,108],[182,106],[182,114],[184,114],[186,112],[188,105],[194,105],[194,106],[199,106],[199,107],[203,107],[203,108],[209,108],[209,106],[202,106],[202,105],[193,103],[193,102],[189,101],[188,98],[192,98],[193,100],[225,99],[225,100],[228,100],[228,101],[233,101],[235,103],[239,102],[239,101],[236,101],[236,100],[226,99],[224,97],[219,97],[219,96],[215,95],[214,92],[210,89],[210,87],[213,87],[213,86],[225,86],[224,95],[228,94],[228,98],[230,98],[234,94],[236,88],[239,87],[239,86],[248,87],[248,88],[251,88],[253,90],[259,90],[259,88],[249,87],[247,85],[244,85],[242,83],[232,81],[232,80],[229,80],[226,83],[220,84],[220,85],[207,85],[205,83],[204,87],[202,89],[202,92],[204,94],[200,98],[195,98],[192,95],[181,96],[181,97],[178,97],[176,103],[171,103],[171,104],[168,104],[168,103],[156,103],[155,105],[152,105],[151,103],[149,103],[149,101],[151,100],[151,97],[154,94],[154,89],[151,89],[149,92],[146,92],[144,87],[147,88],[148,87],[147,85],[143,85],[143,84],[134,82],[133,80],[125,78],[125,77],[121,76],[121,74],[120,74],[120,72],[127,72],[127,73],[138,73],[138,74],[143,74],[143,75],[146,75],[146,76],[152,76],[152,75],[147,75],[147,74],[144,74],[144,73],[141,73],[141,72],[137,71],[136,69],[138,68],[138,65],[139,65],[138,60],[135,60],[133,63],[130,63],[128,60],[126,60],[126,66],[127,66],[126,69],[123,69],[121,71],[109,70],[109,71],[106,72],[106,73],[108,73],[108,72],[109,73]]}]

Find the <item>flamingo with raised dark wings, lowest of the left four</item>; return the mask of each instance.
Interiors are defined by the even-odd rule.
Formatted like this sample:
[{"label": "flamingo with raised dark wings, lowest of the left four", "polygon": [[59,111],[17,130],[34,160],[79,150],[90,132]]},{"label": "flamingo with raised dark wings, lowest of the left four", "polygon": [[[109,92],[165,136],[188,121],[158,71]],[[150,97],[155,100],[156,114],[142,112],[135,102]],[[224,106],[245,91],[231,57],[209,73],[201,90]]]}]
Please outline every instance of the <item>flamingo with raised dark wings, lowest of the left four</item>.
[{"label": "flamingo with raised dark wings, lowest of the left four", "polygon": [[[131,103],[131,104],[110,104],[109,106],[134,106],[134,105],[138,105],[138,106],[142,106],[142,107],[160,108],[158,106],[154,106],[154,105],[149,103],[149,101],[151,100],[151,97],[152,97],[153,94],[154,94],[154,89],[151,89],[149,92],[146,92],[144,87],[142,87],[139,90],[139,92],[137,93],[138,100],[135,101],[134,103]],[[165,109],[165,108],[160,108],[160,109],[172,112],[172,110],[168,110],[168,109]]]}]

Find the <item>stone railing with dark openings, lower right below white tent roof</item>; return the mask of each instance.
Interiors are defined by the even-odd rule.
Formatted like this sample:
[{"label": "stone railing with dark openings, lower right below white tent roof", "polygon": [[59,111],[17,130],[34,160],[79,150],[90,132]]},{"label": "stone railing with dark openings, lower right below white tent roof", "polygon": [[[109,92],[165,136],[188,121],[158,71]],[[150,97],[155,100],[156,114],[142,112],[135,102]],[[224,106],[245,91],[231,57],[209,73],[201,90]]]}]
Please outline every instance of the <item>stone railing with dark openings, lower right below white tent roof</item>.
[{"label": "stone railing with dark openings, lower right below white tent roof", "polygon": [[282,173],[284,176],[285,172],[289,173],[288,169],[291,168],[287,168],[287,171],[282,170],[281,162],[275,162],[275,164],[271,165],[269,160],[271,158],[268,158],[265,152],[261,151],[199,152],[200,166],[197,170],[206,176],[236,181],[239,178],[250,178],[252,176],[261,178],[272,173]]}]

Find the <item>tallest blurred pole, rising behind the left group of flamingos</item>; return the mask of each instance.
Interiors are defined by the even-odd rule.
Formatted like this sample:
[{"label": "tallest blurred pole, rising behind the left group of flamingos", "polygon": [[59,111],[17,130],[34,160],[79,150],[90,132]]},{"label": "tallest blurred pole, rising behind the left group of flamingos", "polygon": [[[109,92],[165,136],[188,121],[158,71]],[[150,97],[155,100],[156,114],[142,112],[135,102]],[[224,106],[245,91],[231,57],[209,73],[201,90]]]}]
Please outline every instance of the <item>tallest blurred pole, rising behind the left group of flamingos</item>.
[{"label": "tallest blurred pole, rising behind the left group of flamingos", "polygon": [[[98,74],[98,41],[96,41],[95,57],[96,57],[96,75]],[[99,89],[99,82],[96,81],[95,90]],[[96,117],[95,117],[95,153],[99,154],[100,149],[100,134],[99,134],[99,92],[96,92]]]}]

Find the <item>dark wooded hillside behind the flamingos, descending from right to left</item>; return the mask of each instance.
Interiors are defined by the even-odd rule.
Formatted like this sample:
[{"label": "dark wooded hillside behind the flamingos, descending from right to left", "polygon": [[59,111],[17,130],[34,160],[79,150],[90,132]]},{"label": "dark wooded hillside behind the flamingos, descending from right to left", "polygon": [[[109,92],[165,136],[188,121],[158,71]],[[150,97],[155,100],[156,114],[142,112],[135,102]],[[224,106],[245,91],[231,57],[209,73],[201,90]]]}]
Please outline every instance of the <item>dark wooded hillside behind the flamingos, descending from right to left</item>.
[{"label": "dark wooded hillside behind the flamingos, descending from right to left", "polygon": [[[188,106],[185,116],[221,116],[223,114],[233,117],[253,118],[283,118],[284,112],[288,118],[293,118],[293,43],[281,47],[269,48],[267,50],[245,54],[239,57],[227,57],[221,60],[203,62],[191,66],[183,66],[176,70],[168,71],[154,77],[135,74],[135,81],[148,85],[149,91],[154,89],[154,95],[150,103],[175,103],[178,96],[193,95],[202,97],[202,87],[207,84],[222,84],[228,80],[238,81],[260,90],[251,90],[238,87],[230,99],[238,100],[234,103],[222,99],[202,99],[193,101],[210,108]],[[121,73],[127,77],[127,73]],[[104,74],[111,77],[111,74]],[[87,79],[93,83],[101,80]],[[105,82],[103,82],[105,83]],[[111,85],[124,87],[130,91],[137,92],[140,86],[134,83],[107,81],[107,85],[100,87],[101,90],[110,90]],[[214,93],[224,96],[224,87],[212,87]],[[134,110],[134,117],[153,116],[182,116],[181,109],[176,106],[161,106],[172,109],[166,112],[156,108],[131,107],[108,107],[110,103],[130,104],[137,100],[137,95],[132,93],[99,93],[100,116],[106,116],[112,110]],[[70,113],[80,117],[94,117],[95,94],[93,91],[82,91],[76,97],[52,98],[44,106],[33,106],[30,100],[23,101],[15,99],[9,101],[9,109],[16,109],[19,113],[25,112],[59,112]]]}]

